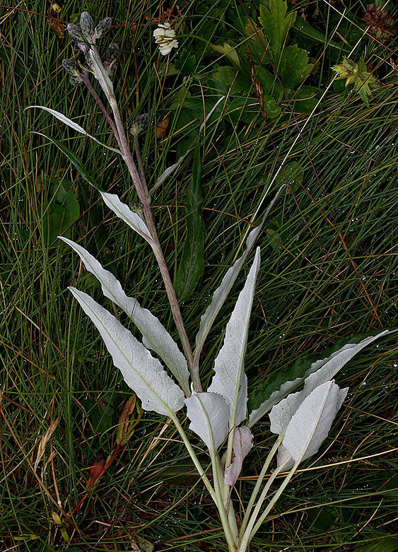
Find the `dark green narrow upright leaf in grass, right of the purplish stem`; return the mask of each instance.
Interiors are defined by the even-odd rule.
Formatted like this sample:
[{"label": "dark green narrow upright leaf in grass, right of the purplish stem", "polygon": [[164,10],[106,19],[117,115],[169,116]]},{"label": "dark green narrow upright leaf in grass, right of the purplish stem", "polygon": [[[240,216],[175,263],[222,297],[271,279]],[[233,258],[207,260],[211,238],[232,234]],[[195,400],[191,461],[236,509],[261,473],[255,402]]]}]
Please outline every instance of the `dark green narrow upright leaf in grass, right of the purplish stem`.
[{"label": "dark green narrow upright leaf in grass, right of the purplish stem", "polygon": [[204,221],[201,205],[203,203],[201,188],[201,155],[200,146],[194,151],[192,180],[185,199],[187,214],[187,236],[185,237],[182,257],[175,275],[175,292],[180,301],[189,299],[204,271]]}]

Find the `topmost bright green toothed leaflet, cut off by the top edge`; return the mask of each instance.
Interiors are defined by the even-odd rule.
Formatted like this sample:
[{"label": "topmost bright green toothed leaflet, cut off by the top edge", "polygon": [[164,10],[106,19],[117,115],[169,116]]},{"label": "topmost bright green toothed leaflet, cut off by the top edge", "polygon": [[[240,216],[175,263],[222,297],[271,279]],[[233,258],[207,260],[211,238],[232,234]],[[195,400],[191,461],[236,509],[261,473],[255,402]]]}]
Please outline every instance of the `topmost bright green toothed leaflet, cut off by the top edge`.
[{"label": "topmost bright green toothed leaflet, cut off by the top edge", "polygon": [[269,8],[260,6],[259,22],[267,34],[274,62],[279,59],[288,30],[295,21],[295,12],[291,11],[286,15],[287,9],[288,5],[284,0],[269,0]]}]

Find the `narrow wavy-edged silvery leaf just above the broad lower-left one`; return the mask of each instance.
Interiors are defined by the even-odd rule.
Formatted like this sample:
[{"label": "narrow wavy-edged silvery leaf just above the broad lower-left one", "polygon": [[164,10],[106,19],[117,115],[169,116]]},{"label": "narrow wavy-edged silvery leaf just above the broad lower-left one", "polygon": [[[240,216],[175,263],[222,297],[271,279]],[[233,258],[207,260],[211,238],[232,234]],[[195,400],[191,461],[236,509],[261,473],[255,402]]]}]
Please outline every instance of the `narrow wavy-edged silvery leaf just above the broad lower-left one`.
[{"label": "narrow wavy-edged silvery leaf just above the broad lower-left one", "polygon": [[105,270],[84,247],[68,240],[66,237],[58,237],[76,251],[86,269],[100,281],[105,297],[112,300],[129,315],[144,336],[144,346],[158,353],[182,389],[184,389],[185,394],[189,395],[187,360],[160,320],[148,309],[141,307],[135,298],[128,297],[112,272]]}]

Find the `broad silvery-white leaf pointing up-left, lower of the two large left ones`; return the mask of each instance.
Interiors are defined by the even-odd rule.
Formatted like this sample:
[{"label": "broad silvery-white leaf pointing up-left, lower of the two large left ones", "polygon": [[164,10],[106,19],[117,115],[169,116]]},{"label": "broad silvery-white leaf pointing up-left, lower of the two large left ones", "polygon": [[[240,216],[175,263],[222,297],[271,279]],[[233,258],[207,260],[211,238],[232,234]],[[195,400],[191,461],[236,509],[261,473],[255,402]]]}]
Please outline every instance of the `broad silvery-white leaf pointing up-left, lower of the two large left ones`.
[{"label": "broad silvery-white leaf pointing up-left, lower of the two large left ones", "polygon": [[184,392],[173,382],[157,358],[113,315],[76,288],[69,288],[101,334],[113,363],[124,381],[142,401],[142,408],[164,416],[184,405]]}]

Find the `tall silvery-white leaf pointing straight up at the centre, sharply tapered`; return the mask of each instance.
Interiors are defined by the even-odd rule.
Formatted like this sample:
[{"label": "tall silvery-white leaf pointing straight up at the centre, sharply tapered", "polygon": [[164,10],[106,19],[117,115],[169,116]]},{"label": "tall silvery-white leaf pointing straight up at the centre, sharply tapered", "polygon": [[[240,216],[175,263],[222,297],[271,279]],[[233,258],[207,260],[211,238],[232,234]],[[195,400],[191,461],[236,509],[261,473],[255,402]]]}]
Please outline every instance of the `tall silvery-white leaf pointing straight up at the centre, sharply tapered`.
[{"label": "tall silvery-white leaf pointing straight up at the centre, sharply tapered", "polygon": [[260,249],[257,247],[245,286],[227,324],[223,346],[214,362],[215,374],[208,389],[226,399],[230,408],[230,428],[247,418],[245,352],[259,264]]}]

